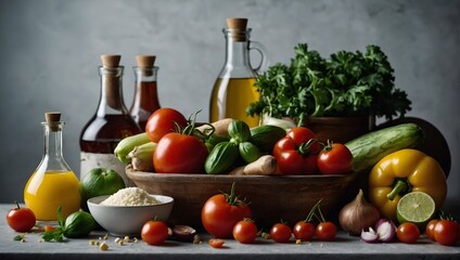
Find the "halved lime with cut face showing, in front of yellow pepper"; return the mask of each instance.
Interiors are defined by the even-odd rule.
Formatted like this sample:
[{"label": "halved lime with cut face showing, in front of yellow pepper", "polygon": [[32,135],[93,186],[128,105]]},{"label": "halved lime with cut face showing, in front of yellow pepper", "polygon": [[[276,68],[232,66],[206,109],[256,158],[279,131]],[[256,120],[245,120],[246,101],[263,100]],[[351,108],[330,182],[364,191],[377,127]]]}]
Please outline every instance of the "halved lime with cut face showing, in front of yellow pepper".
[{"label": "halved lime with cut face showing, in front of yellow pepper", "polygon": [[433,198],[424,192],[411,192],[404,195],[396,207],[399,223],[412,222],[424,230],[435,211]]}]

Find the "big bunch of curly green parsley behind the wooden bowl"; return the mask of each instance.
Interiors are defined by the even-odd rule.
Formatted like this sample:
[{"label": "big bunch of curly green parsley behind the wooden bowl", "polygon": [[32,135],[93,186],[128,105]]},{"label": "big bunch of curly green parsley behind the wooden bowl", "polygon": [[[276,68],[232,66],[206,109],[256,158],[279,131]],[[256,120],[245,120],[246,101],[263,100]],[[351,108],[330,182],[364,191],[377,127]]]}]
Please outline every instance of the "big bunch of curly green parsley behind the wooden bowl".
[{"label": "big bunch of curly green parsley behind the wooden bowl", "polygon": [[325,60],[299,43],[291,65],[277,63],[257,78],[260,100],[246,112],[290,117],[299,125],[307,116],[404,116],[411,102],[405,91],[395,89],[393,74],[376,46],[368,46],[366,53],[340,51]]}]

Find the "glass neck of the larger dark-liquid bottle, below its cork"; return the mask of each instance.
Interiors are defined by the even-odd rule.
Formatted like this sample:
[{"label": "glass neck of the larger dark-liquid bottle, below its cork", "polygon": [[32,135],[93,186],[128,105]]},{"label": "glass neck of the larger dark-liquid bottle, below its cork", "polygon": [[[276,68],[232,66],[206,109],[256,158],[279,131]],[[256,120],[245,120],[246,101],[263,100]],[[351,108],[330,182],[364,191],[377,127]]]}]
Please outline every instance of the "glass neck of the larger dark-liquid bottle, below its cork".
[{"label": "glass neck of the larger dark-liquid bottle, below its cork", "polygon": [[97,113],[99,117],[128,114],[123,98],[123,66],[99,67],[101,76],[101,99]]}]

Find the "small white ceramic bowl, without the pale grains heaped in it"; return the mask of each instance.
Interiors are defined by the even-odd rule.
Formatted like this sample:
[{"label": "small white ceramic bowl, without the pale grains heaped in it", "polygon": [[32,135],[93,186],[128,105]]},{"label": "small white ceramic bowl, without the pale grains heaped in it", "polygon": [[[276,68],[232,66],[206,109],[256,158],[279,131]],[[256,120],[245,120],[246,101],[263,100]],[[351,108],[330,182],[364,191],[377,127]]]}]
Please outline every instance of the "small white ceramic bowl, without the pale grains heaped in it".
[{"label": "small white ceramic bowl, without the pale grains heaped in it", "polygon": [[88,208],[98,223],[115,236],[139,235],[143,224],[156,218],[167,221],[173,210],[174,198],[152,195],[161,204],[151,206],[107,206],[101,203],[108,197],[98,196],[88,199]]}]

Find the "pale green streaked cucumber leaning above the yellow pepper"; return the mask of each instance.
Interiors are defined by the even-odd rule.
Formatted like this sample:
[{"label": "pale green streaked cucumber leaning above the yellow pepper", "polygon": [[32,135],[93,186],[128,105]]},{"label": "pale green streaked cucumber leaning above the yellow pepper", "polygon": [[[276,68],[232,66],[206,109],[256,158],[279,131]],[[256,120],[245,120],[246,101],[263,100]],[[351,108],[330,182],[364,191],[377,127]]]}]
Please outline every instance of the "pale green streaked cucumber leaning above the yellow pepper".
[{"label": "pale green streaked cucumber leaning above the yellow pepper", "polygon": [[410,122],[367,133],[345,145],[353,154],[354,171],[362,172],[372,168],[388,154],[417,147],[423,139],[423,129]]}]

